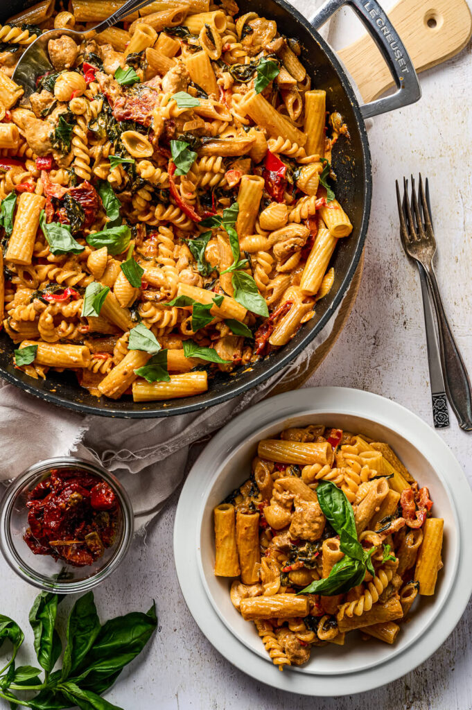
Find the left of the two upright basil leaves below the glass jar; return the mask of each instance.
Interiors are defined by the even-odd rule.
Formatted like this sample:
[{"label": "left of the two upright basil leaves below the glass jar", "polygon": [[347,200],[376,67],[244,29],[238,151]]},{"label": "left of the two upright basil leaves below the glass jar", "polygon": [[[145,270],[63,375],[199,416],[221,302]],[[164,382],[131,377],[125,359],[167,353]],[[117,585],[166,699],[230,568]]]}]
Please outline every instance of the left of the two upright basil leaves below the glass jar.
[{"label": "left of the two upright basil leaves below the glass jar", "polygon": [[57,604],[62,601],[62,598],[49,591],[42,591],[36,597],[29,615],[38,663],[48,673],[53,670],[62,651],[59,635],[54,628]]}]

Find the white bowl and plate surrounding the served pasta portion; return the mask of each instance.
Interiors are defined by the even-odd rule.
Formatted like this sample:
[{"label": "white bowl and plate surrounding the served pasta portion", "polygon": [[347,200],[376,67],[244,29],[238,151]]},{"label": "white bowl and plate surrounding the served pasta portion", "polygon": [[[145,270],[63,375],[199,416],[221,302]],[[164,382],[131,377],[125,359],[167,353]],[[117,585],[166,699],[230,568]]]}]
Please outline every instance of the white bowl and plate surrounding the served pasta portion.
[{"label": "white bowl and plate surrounding the served pasta portion", "polygon": [[[429,487],[434,513],[444,518],[444,569],[437,593],[422,598],[393,646],[359,643],[314,649],[302,667],[281,673],[253,624],[229,599],[229,581],[214,577],[212,509],[250,471],[257,442],[289,425],[323,422],[390,443],[420,484]],[[456,626],[472,594],[472,548],[466,521],[472,492],[451,451],[416,415],[390,400],[347,388],[302,389],[270,398],[226,425],[194,464],[177,506],[174,552],[177,576],[195,621],[224,657],[244,672],[283,690],[342,695],[373,689],[429,657]],[[355,638],[356,637],[356,638]]]}]

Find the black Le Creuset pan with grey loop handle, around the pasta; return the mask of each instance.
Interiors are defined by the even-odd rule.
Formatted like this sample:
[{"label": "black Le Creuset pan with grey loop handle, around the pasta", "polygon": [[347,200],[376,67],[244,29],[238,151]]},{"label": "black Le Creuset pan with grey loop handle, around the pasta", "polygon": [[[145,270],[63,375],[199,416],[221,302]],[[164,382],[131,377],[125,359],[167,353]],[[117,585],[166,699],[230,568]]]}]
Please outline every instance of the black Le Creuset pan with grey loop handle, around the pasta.
[{"label": "black Le Creuset pan with grey loop handle, around the pasta", "polygon": [[[30,4],[33,3],[28,6]],[[285,347],[269,354],[248,371],[236,371],[230,376],[216,374],[207,393],[170,402],[134,403],[129,396],[118,401],[96,398],[79,387],[74,373],[51,370],[47,380],[34,380],[14,368],[12,353],[16,346],[5,332],[0,332],[0,376],[24,391],[80,413],[108,417],[165,417],[204,409],[240,395],[289,364],[322,330],[346,293],[361,257],[371,211],[371,155],[364,119],[417,101],[420,91],[415,69],[388,17],[375,0],[347,0],[347,3],[346,0],[328,0],[312,23],[285,0],[238,0],[238,4],[241,13],[253,11],[274,19],[279,31],[300,41],[301,60],[312,77],[312,86],[326,90],[326,109],[339,111],[348,126],[350,137],[340,138],[336,143],[332,162],[338,178],[336,197],[351,218],[353,232],[347,239],[339,240],[331,260],[335,273],[333,288],[317,303],[312,320],[304,324]],[[314,29],[344,4],[353,6],[366,23],[397,83],[396,94],[363,107],[359,106],[336,55]],[[24,7],[22,0],[4,0],[0,22]]]}]

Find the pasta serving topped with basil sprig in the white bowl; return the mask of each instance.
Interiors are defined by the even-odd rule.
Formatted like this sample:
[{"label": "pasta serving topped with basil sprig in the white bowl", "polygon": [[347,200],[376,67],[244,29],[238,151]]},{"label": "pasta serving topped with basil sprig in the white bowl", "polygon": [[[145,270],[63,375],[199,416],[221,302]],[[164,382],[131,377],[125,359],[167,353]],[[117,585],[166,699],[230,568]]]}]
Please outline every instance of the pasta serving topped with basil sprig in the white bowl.
[{"label": "pasta serving topped with basil sprig in the white bowl", "polygon": [[444,520],[384,442],[290,428],[214,509],[215,569],[273,663],[302,665],[346,633],[394,643],[441,569]]}]

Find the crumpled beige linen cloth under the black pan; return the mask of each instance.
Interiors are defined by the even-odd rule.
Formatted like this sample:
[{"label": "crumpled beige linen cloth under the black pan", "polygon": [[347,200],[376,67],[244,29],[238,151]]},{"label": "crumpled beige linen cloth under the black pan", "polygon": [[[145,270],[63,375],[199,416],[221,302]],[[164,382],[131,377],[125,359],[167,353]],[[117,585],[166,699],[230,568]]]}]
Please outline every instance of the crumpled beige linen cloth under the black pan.
[{"label": "crumpled beige linen cloth under the black pan", "polygon": [[[302,0],[297,9],[311,16],[321,4]],[[270,395],[289,369],[296,373],[329,337],[335,320],[336,314],[288,368],[262,385],[217,407],[177,417],[118,420],[79,415],[0,380],[0,481],[8,481],[36,461],[50,457],[75,454],[98,461],[123,481],[133,502],[136,528],[142,529],[182,480],[190,444],[208,437],[249,405]]]}]

